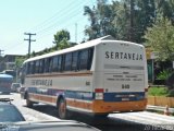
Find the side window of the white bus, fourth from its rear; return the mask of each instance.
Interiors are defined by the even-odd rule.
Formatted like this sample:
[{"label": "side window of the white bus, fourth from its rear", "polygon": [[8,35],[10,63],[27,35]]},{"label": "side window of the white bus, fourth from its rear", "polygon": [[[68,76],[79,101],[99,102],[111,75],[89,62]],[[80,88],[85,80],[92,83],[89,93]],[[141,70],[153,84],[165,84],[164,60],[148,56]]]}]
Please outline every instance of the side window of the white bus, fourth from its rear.
[{"label": "side window of the white bus, fourth from its rear", "polygon": [[64,71],[71,71],[72,52],[65,55]]}]

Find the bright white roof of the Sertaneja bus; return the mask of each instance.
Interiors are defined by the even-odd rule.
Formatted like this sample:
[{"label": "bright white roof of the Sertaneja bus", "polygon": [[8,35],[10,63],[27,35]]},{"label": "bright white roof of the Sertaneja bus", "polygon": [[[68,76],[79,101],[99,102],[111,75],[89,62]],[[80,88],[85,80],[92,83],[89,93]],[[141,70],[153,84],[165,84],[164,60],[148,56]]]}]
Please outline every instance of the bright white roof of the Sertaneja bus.
[{"label": "bright white roof of the Sertaneja bus", "polygon": [[[46,55],[37,56],[37,57],[34,57],[34,58],[29,58],[26,61],[24,61],[24,63],[28,62],[28,61],[34,61],[34,60],[39,60],[39,59],[42,59],[42,58],[52,57],[52,56],[55,56],[55,55],[62,55],[62,53],[65,53],[65,52],[71,52],[71,51],[76,51],[76,50],[79,50],[79,49],[90,48],[90,47],[94,47],[94,46],[99,45],[99,44],[104,43],[104,41],[127,43],[127,41],[124,41],[124,40],[116,40],[111,35],[108,35],[108,36],[100,37],[100,38],[97,38],[97,39],[94,39],[94,40],[89,40],[89,41],[86,41],[86,43],[83,43],[83,44],[78,44],[78,45],[76,45],[74,47],[71,47],[71,48],[66,48],[66,49],[49,52],[49,53],[46,53]],[[133,44],[133,45],[138,45],[138,44],[130,43],[130,41],[128,41],[128,43]],[[142,45],[139,45],[139,46],[142,46]]]}]

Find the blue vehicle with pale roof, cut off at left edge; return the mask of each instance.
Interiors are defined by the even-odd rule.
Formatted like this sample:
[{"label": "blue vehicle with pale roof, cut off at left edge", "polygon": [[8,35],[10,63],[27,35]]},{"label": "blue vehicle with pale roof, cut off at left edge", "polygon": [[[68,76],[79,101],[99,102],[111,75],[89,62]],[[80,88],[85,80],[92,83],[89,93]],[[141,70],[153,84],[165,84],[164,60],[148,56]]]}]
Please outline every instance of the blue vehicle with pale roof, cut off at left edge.
[{"label": "blue vehicle with pale roof, cut off at left edge", "polygon": [[10,94],[13,76],[9,74],[0,74],[0,93]]}]

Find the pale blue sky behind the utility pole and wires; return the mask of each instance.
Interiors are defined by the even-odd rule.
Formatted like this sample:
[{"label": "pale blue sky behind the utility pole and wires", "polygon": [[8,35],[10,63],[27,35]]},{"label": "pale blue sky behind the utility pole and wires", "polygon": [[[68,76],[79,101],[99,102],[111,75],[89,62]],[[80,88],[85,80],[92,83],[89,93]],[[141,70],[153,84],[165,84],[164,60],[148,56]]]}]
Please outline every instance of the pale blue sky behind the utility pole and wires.
[{"label": "pale blue sky behind the utility pole and wires", "polygon": [[[28,35],[33,33],[30,52],[52,47],[53,35],[66,29],[71,41],[80,43],[88,17],[84,5],[96,0],[0,0],[0,50],[4,55],[28,53]],[[75,34],[76,37],[75,37]]]}]

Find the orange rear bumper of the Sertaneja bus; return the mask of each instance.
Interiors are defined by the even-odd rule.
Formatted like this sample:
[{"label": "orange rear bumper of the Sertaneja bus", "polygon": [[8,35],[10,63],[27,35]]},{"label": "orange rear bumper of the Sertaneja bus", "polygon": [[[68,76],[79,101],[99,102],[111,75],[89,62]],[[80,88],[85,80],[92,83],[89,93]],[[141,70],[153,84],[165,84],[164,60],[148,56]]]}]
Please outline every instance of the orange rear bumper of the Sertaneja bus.
[{"label": "orange rear bumper of the Sertaneja bus", "polygon": [[125,111],[141,111],[147,106],[147,99],[135,100],[135,102],[113,102],[105,103],[103,100],[95,100],[92,104],[92,111],[95,114],[102,112],[125,112]]}]

